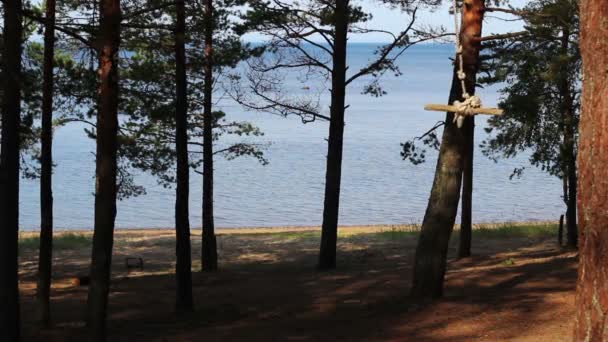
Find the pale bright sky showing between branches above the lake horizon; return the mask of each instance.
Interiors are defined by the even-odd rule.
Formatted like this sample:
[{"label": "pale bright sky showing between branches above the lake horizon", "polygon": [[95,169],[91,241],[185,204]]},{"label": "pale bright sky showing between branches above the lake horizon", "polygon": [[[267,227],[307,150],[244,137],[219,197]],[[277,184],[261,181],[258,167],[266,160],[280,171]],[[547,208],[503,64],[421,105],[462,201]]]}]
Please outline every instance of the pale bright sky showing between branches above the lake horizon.
[{"label": "pale bright sky showing between branches above the lake horizon", "polygon": [[[409,21],[407,14],[400,12],[399,10],[391,9],[390,7],[382,4],[378,0],[357,0],[365,11],[372,13],[372,20],[367,23],[368,28],[377,28],[393,33],[400,32]],[[427,26],[444,26],[450,32],[454,31],[454,19],[449,14],[449,8],[451,1],[445,1],[445,5],[434,12],[428,10],[420,10],[418,12],[417,23]],[[526,0],[511,0],[510,5],[513,7],[522,7],[527,3]],[[522,29],[521,21],[505,21],[503,19],[513,19],[509,15],[500,14],[489,14],[486,15],[484,22],[484,33],[495,34],[495,33],[506,33],[513,31],[520,31]],[[259,34],[250,34],[245,37],[247,41],[259,42],[264,38]],[[366,35],[353,35],[349,42],[351,43],[378,43],[388,41],[388,36],[385,34],[366,34]]]}]

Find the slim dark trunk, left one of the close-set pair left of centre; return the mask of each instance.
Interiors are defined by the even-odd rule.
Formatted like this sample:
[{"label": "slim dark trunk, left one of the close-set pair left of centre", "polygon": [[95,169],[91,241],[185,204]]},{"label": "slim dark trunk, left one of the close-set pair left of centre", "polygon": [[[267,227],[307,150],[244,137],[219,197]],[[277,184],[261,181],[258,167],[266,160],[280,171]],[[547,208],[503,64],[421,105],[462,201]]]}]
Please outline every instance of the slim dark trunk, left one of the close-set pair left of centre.
[{"label": "slim dark trunk, left one of the close-set pair left of centre", "polygon": [[186,9],[184,0],[175,3],[175,150],[177,153],[177,189],[175,196],[175,276],[177,280],[176,309],[191,311],[192,259],[190,253],[190,218],[188,197],[190,166],[188,165],[188,81],[186,79]]}]

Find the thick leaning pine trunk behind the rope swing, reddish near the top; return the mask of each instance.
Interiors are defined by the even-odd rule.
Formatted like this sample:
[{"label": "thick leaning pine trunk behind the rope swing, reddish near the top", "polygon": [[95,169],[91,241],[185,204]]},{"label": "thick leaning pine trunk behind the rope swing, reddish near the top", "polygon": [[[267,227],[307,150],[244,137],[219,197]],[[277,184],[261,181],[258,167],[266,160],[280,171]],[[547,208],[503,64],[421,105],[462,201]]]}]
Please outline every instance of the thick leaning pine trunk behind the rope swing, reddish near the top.
[{"label": "thick leaning pine trunk behind the rope swing, reddish near the top", "polygon": [[[464,68],[467,74],[466,87],[469,94],[475,93],[475,78],[478,69],[484,1],[465,2],[462,13],[461,41]],[[454,68],[449,103],[462,98],[462,87]],[[458,211],[462,172],[465,163],[466,129],[453,123],[454,113],[447,113],[435,180],[422,222],[422,231],[416,248],[412,295],[419,298],[435,298],[443,295],[447,251],[450,235]],[[467,118],[466,121],[470,121]],[[465,122],[466,125],[471,123]]]}]

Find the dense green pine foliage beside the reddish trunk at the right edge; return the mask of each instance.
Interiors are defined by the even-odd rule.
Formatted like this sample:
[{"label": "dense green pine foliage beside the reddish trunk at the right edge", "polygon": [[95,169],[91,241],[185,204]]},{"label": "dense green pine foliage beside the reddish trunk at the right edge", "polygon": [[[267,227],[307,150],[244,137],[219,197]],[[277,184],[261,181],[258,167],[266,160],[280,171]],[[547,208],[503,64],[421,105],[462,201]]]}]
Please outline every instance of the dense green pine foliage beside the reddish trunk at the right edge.
[{"label": "dense green pine foliage beside the reddish trunk at the right edge", "polygon": [[494,160],[530,151],[531,165],[561,178],[564,129],[578,131],[580,112],[578,1],[537,0],[523,11],[528,34],[489,44],[484,55],[487,76],[480,82],[506,83],[500,102],[506,115],[488,121],[482,149]]}]

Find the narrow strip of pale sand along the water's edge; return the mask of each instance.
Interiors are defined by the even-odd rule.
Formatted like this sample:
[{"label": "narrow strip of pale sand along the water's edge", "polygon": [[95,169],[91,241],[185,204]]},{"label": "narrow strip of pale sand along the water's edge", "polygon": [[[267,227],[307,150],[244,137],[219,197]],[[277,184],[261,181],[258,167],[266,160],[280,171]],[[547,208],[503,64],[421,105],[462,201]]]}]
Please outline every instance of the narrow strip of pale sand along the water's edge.
[{"label": "narrow strip of pale sand along the water's edge", "polygon": [[[476,229],[496,229],[501,227],[518,227],[518,226],[546,226],[556,225],[557,221],[519,221],[519,222],[489,222],[475,223],[473,230]],[[348,233],[380,233],[385,231],[400,231],[400,232],[416,232],[420,230],[421,224],[370,224],[370,225],[342,225],[339,230]],[[454,230],[459,230],[460,224],[454,225]],[[129,233],[141,234],[149,233],[155,235],[165,235],[174,233],[175,228],[115,228],[117,235],[129,235]],[[321,231],[321,226],[272,226],[272,227],[235,227],[235,228],[216,228],[217,235],[239,235],[239,234],[272,234],[286,232],[317,232]],[[21,230],[20,237],[29,237],[37,235],[40,232],[37,230]],[[82,234],[89,235],[93,233],[93,229],[55,229],[54,234]],[[201,235],[201,227],[190,229],[190,234],[193,236]]]}]

